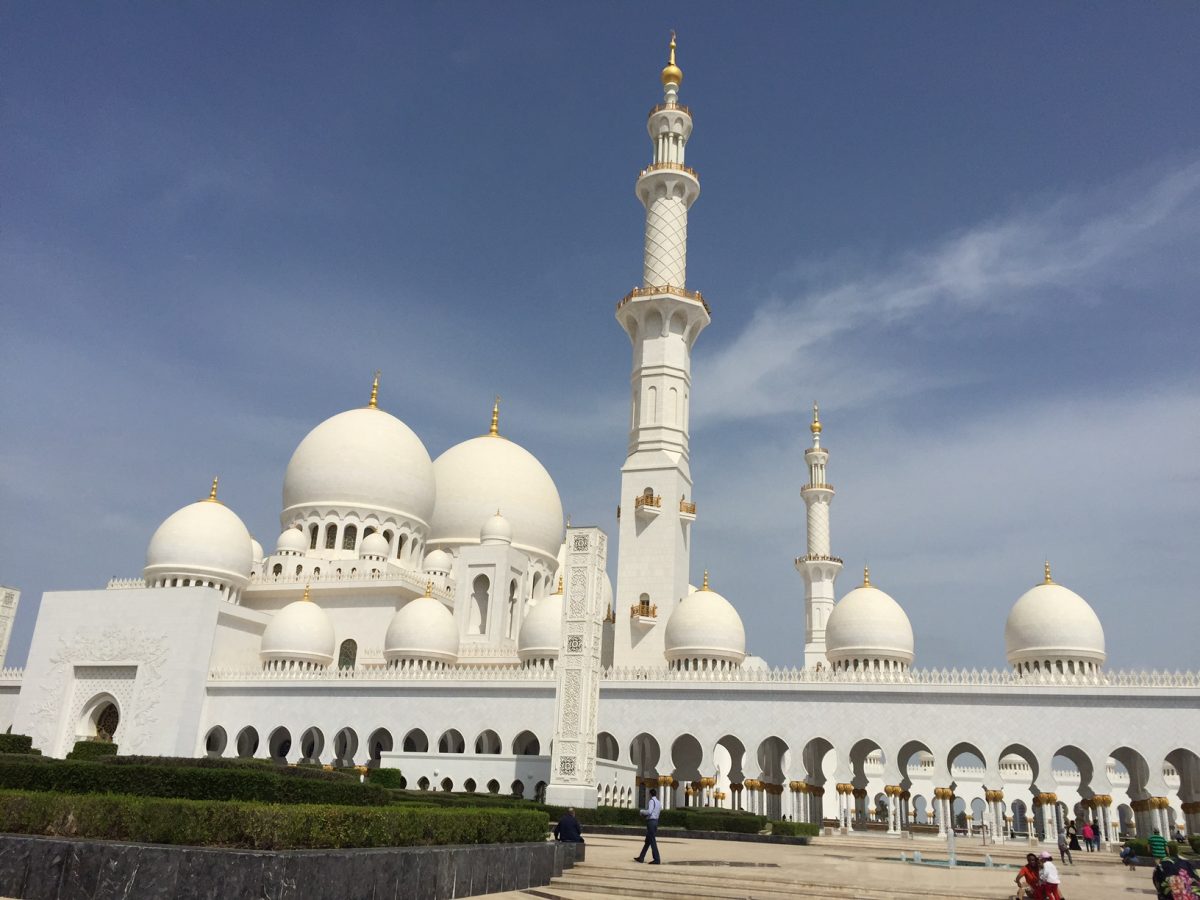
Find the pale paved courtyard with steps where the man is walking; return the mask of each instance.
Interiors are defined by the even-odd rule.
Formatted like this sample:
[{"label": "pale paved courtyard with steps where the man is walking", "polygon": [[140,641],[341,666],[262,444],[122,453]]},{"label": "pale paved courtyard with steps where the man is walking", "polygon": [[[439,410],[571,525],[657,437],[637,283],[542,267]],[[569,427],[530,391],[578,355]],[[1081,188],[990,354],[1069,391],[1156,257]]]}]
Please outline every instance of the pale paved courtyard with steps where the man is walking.
[{"label": "pale paved courtyard with steps where the man is walking", "polygon": [[[1014,893],[1016,864],[1027,847],[982,847],[960,841],[960,862],[982,863],[990,853],[1010,868],[959,866],[955,869],[905,865],[914,850],[926,859],[946,859],[946,846],[932,840],[883,838],[820,838],[808,847],[734,841],[662,838],[662,865],[638,865],[637,838],[595,835],[588,839],[587,862],[545,888],[492,894],[503,900],[584,900],[620,898],[952,898],[1002,900]],[[1075,853],[1074,866],[1060,866],[1063,896],[1069,900],[1153,896],[1150,869],[1130,871],[1116,852]]]}]

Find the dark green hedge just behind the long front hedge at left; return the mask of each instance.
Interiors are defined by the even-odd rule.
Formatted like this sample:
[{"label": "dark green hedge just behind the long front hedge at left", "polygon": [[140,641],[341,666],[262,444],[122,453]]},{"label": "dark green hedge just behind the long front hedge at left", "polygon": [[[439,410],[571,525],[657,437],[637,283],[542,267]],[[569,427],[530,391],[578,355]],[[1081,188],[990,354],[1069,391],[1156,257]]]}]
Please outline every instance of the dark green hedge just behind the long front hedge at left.
[{"label": "dark green hedge just behind the long front hedge at left", "polygon": [[0,788],[348,806],[382,806],[391,799],[382,787],[360,785],[356,779],[326,781],[286,772],[250,767],[107,766],[95,762],[60,762],[54,766],[10,763],[0,766]]}]

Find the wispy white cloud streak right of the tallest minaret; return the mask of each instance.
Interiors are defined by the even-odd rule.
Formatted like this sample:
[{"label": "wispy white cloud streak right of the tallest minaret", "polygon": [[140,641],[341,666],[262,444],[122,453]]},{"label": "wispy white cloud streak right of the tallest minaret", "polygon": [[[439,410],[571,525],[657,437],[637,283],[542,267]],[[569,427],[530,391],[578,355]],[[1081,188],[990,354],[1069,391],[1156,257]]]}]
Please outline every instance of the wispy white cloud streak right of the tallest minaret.
[{"label": "wispy white cloud streak right of the tallest minaret", "polygon": [[[1028,314],[1049,300],[1094,304],[1115,286],[1160,277],[1164,253],[1200,244],[1200,161],[1103,190],[1018,210],[883,265],[805,262],[745,329],[698,364],[703,420],[793,410],[836,360],[824,349],[850,335],[916,326],[930,314]],[[1186,251],[1188,256],[1194,256]],[[882,355],[836,367],[841,406],[913,389]],[[949,373],[913,373],[920,382]],[[968,377],[960,373],[956,377]]]}]

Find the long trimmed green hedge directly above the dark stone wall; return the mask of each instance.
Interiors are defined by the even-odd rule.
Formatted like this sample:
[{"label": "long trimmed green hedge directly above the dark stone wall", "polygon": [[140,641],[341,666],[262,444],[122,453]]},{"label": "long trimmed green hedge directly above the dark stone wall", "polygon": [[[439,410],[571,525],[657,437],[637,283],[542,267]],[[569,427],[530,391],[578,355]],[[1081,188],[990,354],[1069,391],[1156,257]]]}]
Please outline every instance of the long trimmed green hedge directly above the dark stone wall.
[{"label": "long trimmed green hedge directly above the dark stone wall", "polygon": [[289,850],[541,841],[534,810],[268,805],[0,791],[0,832]]}]

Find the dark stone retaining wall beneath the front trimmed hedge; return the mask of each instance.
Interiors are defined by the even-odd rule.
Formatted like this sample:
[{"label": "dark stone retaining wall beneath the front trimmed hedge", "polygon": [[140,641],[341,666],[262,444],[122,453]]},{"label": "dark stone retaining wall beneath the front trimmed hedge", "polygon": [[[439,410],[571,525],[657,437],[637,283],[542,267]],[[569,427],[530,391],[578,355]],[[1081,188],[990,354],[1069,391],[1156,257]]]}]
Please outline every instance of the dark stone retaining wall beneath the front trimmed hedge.
[{"label": "dark stone retaining wall beneath the front trimmed hedge", "polygon": [[0,896],[30,900],[449,900],[550,884],[572,844],[228,850],[0,835]]}]

